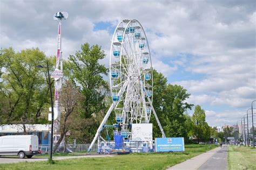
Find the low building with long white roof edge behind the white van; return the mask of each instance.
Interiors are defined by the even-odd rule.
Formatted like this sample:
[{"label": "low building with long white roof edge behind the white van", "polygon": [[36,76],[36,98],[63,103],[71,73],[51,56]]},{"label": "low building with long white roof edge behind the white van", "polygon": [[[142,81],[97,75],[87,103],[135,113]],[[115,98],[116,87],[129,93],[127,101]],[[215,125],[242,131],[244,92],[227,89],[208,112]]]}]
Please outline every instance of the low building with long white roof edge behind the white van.
[{"label": "low building with long white roof edge behind the white van", "polygon": [[[51,125],[43,124],[26,124],[26,132],[28,134],[35,134],[38,136],[38,143],[40,144],[49,144],[50,143],[50,129]],[[0,136],[8,135],[19,135],[24,134],[24,129],[22,124],[16,125],[0,125]]]}]

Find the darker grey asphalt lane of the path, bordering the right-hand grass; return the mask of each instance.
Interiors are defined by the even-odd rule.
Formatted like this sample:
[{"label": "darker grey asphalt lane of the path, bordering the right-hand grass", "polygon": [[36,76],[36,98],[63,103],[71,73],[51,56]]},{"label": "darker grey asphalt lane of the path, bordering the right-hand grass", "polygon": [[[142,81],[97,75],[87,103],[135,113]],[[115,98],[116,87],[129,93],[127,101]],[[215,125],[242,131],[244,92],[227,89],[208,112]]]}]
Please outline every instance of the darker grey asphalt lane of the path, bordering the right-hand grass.
[{"label": "darker grey asphalt lane of the path, bordering the right-hand grass", "polygon": [[223,146],[219,151],[217,151],[210,159],[208,159],[202,166],[198,169],[212,169],[212,170],[222,170],[227,169],[227,146]]}]

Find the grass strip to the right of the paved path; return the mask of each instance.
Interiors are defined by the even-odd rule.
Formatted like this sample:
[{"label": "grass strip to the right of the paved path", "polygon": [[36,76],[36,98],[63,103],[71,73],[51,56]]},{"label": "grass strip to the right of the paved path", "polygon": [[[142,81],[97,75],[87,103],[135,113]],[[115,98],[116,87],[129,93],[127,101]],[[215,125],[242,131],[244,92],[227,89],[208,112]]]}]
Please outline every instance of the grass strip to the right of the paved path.
[{"label": "grass strip to the right of the paved path", "polygon": [[229,146],[228,169],[256,169],[256,148]]}]

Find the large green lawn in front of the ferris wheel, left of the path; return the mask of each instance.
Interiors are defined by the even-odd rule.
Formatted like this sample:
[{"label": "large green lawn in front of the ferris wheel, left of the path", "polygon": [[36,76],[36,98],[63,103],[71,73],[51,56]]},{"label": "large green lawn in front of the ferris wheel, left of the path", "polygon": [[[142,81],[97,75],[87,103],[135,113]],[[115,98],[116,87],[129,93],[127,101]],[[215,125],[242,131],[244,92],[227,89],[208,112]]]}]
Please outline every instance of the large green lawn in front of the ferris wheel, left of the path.
[{"label": "large green lawn in front of the ferris wheel, left of the path", "polygon": [[0,164],[0,169],[164,169],[217,147],[216,145],[185,145],[179,153],[131,153],[105,158],[77,158],[46,161]]}]

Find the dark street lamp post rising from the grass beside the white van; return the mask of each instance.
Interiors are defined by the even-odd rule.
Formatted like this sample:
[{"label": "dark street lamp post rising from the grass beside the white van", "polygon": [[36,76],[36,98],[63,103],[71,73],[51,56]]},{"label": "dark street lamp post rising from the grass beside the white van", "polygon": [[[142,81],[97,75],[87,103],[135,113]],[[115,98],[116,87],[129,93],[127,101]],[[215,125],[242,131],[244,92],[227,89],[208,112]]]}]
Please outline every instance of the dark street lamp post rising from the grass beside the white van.
[{"label": "dark street lamp post rising from the grass beside the white van", "polygon": [[45,66],[41,66],[38,65],[36,66],[37,68],[47,68],[47,72],[48,72],[48,84],[49,84],[49,88],[50,88],[50,96],[51,96],[51,150],[50,150],[50,159],[52,159],[52,144],[53,144],[53,116],[54,116],[54,112],[53,112],[53,102],[52,102],[52,92],[51,92],[51,80],[50,80],[50,73],[49,73],[49,64],[48,61],[46,62],[46,67]]}]

